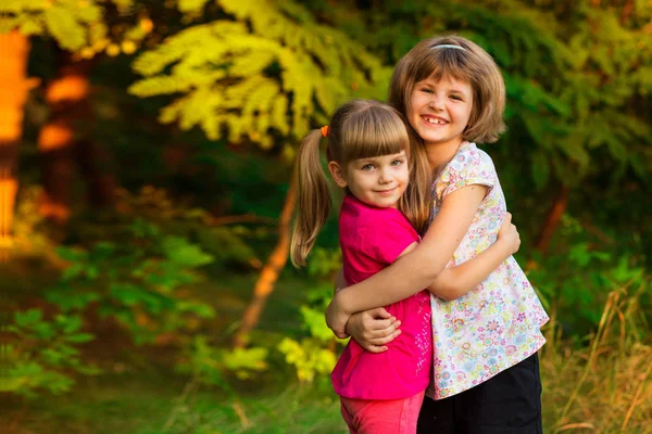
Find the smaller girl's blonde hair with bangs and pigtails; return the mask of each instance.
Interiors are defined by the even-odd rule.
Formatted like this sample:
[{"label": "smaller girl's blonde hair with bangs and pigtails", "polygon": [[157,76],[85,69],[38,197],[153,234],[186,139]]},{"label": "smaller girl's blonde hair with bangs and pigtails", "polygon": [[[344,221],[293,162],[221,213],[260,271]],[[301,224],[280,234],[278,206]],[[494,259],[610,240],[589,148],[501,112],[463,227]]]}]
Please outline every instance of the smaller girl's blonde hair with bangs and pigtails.
[{"label": "smaller girl's blonde hair with bangs and pigtails", "polygon": [[[311,131],[299,149],[297,220],[290,243],[290,259],[305,265],[317,234],[330,213],[330,194],[322,167],[322,131]],[[387,104],[354,100],[340,106],[330,120],[326,156],[340,167],[358,158],[398,154],[405,151],[410,180],[398,208],[423,233],[430,216],[430,169],[425,150],[409,132],[399,112]]]}]

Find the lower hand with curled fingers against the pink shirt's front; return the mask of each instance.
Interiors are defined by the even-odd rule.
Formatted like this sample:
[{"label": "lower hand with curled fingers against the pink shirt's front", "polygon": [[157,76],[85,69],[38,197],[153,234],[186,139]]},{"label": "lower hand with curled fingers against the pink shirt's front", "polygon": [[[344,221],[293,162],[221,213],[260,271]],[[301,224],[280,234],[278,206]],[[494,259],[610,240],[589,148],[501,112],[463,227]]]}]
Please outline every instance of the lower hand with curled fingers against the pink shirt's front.
[{"label": "lower hand with curled fingers against the pink shirt's front", "polygon": [[351,316],[347,323],[347,333],[369,353],[387,350],[386,344],[399,334],[401,321],[392,317],[383,307]]}]

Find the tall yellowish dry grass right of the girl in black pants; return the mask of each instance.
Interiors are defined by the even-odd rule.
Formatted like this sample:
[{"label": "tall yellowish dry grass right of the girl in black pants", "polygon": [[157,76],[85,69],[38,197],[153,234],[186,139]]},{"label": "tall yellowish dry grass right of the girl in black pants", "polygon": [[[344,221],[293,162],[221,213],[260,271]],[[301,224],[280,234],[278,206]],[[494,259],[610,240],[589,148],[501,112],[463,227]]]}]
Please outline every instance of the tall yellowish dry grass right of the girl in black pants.
[{"label": "tall yellowish dry grass right of the girl in black pants", "polygon": [[639,295],[612,292],[584,348],[550,329],[541,358],[548,432],[652,433],[652,346],[640,328]]}]

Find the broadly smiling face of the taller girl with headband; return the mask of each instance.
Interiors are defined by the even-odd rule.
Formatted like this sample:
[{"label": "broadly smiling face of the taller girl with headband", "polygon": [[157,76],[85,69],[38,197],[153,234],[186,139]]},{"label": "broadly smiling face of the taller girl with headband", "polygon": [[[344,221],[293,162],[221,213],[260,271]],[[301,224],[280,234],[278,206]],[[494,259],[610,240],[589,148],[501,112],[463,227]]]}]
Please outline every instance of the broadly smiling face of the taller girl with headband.
[{"label": "broadly smiling face of the taller girl with headband", "polygon": [[412,90],[408,120],[426,146],[462,143],[473,110],[471,84],[452,77],[418,81]]}]

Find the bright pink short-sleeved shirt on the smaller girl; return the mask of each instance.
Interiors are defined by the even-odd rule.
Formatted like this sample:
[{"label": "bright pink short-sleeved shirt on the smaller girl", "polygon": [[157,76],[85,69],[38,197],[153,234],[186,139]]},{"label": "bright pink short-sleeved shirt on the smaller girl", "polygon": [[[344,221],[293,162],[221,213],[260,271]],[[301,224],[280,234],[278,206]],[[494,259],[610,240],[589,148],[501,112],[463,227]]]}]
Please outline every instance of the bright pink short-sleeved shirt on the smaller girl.
[{"label": "bright pink short-sleeved shirt on the smaller girl", "polygon": [[[418,234],[394,208],[376,208],[351,195],[339,219],[344,279],[354,284],[392,264]],[[385,307],[401,320],[402,333],[388,350],[368,353],[350,340],[333,374],[335,392],[347,398],[400,399],[425,391],[430,379],[430,297],[422,291]]]}]

